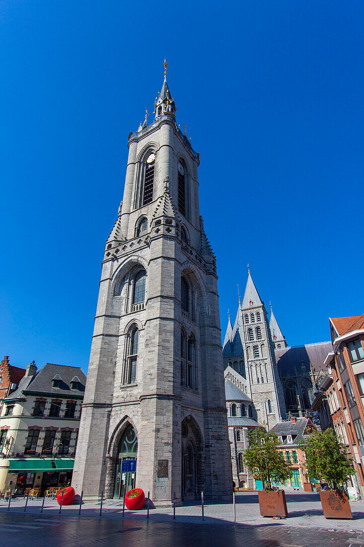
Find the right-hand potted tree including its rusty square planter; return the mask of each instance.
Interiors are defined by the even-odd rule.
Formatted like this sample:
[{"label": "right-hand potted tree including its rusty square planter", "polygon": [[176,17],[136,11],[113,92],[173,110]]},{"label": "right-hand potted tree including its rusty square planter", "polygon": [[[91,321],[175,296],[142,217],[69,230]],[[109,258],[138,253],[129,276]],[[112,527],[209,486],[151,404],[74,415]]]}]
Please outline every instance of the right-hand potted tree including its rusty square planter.
[{"label": "right-hand potted tree including its rusty square planter", "polygon": [[355,470],[345,445],[340,443],[333,429],[328,428],[310,435],[302,443],[302,449],[306,453],[308,475],[324,482],[318,492],[326,519],[352,519],[343,485]]}]

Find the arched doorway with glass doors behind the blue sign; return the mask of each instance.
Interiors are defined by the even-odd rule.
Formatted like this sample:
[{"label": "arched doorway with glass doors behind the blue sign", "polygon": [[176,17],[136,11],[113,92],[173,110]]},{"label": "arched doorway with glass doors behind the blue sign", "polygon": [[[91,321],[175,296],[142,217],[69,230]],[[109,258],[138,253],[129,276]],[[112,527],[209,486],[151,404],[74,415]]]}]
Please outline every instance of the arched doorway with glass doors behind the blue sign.
[{"label": "arched doorway with glass doors behind the blue sign", "polygon": [[116,455],[114,498],[122,498],[124,488],[126,488],[126,492],[134,488],[136,473],[121,473],[121,462],[124,459],[137,459],[137,453],[137,434],[133,426],[129,424],[121,436]]}]

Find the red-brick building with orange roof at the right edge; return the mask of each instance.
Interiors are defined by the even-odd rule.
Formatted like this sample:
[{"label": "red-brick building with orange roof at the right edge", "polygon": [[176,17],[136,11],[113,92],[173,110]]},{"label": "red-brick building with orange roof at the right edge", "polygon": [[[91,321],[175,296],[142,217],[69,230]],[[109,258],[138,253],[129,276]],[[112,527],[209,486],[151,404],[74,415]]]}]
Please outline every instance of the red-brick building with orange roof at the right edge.
[{"label": "red-brick building with orange roof at the right edge", "polygon": [[[332,374],[326,389],[333,427],[354,459],[351,487],[364,497],[364,315],[330,318],[333,351],[325,364]],[[350,485],[349,485],[350,486]]]}]

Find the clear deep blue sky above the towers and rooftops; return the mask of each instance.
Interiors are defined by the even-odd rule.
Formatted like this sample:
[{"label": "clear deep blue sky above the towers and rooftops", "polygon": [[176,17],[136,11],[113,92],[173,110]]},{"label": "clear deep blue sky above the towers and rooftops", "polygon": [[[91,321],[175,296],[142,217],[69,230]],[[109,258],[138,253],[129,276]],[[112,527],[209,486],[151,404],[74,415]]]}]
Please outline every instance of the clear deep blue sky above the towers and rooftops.
[{"label": "clear deep blue sky above the towers and rooftops", "polygon": [[87,370],[127,137],[165,56],[201,153],[224,333],[248,262],[290,345],[361,315],[363,15],[359,0],[4,0],[1,357]]}]

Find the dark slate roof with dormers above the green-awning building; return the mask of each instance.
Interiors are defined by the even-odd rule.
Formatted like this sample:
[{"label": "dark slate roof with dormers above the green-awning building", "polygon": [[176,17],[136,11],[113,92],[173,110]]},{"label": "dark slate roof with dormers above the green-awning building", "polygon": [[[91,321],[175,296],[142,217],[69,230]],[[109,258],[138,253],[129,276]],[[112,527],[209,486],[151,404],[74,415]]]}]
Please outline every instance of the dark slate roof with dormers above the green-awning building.
[{"label": "dark slate roof with dormers above the green-awning building", "polygon": [[[53,387],[52,379],[61,374],[61,387]],[[71,389],[72,378],[77,374],[80,379],[79,389]],[[86,375],[78,366],[55,365],[46,363],[34,376],[25,376],[17,389],[7,399],[24,399],[29,392],[47,393],[49,395],[84,396]],[[5,399],[6,400],[6,399]]]}]

